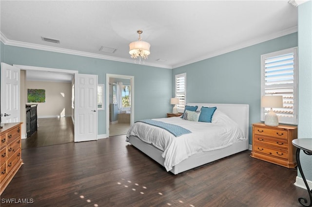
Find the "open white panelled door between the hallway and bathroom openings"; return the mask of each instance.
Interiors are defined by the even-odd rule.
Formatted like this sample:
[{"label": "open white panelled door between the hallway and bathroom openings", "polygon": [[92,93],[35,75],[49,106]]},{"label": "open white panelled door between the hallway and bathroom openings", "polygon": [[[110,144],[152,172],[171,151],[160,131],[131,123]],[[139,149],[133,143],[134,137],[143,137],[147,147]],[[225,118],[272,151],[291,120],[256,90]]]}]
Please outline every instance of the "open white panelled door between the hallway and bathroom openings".
[{"label": "open white panelled door between the hallway and bathroom openings", "polygon": [[98,76],[75,74],[75,142],[98,137]]}]

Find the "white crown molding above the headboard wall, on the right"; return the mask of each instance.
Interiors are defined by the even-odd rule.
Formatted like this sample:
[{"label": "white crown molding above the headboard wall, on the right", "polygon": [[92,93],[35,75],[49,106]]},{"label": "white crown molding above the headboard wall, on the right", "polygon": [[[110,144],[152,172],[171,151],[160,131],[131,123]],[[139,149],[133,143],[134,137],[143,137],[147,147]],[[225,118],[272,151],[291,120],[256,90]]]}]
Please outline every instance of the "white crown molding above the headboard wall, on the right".
[{"label": "white crown molding above the headboard wall, on the right", "polygon": [[201,61],[201,60],[212,58],[212,57],[215,57],[215,56],[218,56],[218,55],[221,55],[221,54],[225,54],[225,53],[228,53],[228,52],[233,52],[235,50],[239,50],[239,49],[246,48],[246,47],[249,47],[249,46],[252,46],[252,45],[256,45],[256,44],[259,44],[261,42],[265,42],[265,41],[268,41],[268,40],[271,40],[271,39],[275,39],[275,38],[278,38],[278,37],[281,37],[281,36],[284,36],[284,35],[290,35],[290,34],[295,33],[295,32],[298,32],[298,27],[297,26],[291,27],[291,28],[283,30],[283,31],[279,31],[279,32],[271,34],[271,35],[267,35],[267,36],[256,38],[256,39],[253,39],[253,40],[250,40],[250,41],[246,41],[246,42],[243,42],[241,44],[237,44],[237,45],[234,45],[232,47],[228,47],[228,48],[223,49],[223,50],[219,50],[219,51],[208,53],[207,55],[201,56],[199,58],[192,59],[190,61],[186,61],[186,62],[183,62],[183,63],[180,63],[180,64],[176,64],[176,65],[172,66],[172,68],[175,69],[175,68],[178,68],[178,67],[186,66],[186,65],[189,65],[189,64]]}]

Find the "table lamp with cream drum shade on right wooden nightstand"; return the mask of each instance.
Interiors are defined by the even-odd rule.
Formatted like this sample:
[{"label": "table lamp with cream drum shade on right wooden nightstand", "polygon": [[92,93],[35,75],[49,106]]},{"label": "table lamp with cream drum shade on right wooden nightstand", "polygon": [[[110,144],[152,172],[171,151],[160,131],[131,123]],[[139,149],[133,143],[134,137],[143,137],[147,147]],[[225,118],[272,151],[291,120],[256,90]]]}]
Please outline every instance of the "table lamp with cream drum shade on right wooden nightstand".
[{"label": "table lamp with cream drum shade on right wooden nightstand", "polygon": [[283,107],[283,96],[262,96],[261,107],[271,108],[269,113],[265,115],[264,124],[268,126],[278,126],[278,118],[272,108]]}]

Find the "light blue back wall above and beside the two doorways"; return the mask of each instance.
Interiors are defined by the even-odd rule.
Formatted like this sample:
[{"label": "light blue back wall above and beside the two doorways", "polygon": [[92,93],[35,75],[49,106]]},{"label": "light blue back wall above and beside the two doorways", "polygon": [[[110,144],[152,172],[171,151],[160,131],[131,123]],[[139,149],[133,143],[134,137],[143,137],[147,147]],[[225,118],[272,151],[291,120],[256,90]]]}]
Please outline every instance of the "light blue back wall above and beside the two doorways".
[{"label": "light blue back wall above and beside the two doorways", "polygon": [[[134,76],[135,121],[166,117],[166,113],[172,110],[171,69],[27,49],[2,43],[1,61],[10,65],[71,69],[83,74],[96,74],[99,84],[106,84],[106,73]],[[106,134],[106,110],[98,111],[98,135],[103,134]]]}]

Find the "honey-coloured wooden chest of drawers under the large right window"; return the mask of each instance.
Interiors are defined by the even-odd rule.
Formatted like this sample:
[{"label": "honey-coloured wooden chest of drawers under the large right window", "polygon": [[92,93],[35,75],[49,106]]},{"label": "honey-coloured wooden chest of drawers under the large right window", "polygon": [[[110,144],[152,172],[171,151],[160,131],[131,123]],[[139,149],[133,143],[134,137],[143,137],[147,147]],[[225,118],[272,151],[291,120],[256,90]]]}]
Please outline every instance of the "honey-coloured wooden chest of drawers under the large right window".
[{"label": "honey-coloured wooden chest of drawers under the large right window", "polygon": [[254,123],[251,156],[287,168],[295,168],[296,150],[292,145],[292,139],[295,138],[296,126],[267,126],[264,123]]}]

